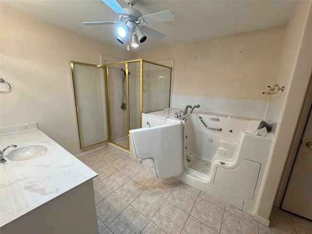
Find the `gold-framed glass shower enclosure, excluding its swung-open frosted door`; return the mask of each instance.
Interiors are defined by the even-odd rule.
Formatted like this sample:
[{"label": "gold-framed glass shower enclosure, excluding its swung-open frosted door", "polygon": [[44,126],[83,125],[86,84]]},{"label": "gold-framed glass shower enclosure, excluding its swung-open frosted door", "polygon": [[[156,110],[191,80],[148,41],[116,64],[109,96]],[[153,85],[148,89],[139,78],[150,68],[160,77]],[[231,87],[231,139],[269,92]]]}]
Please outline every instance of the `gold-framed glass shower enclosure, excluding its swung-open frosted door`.
[{"label": "gold-framed glass shower enclosure, excluding its swung-open frosted door", "polygon": [[129,130],[141,113],[170,106],[171,67],[136,59],[103,65],[109,87],[112,142],[129,149]]}]

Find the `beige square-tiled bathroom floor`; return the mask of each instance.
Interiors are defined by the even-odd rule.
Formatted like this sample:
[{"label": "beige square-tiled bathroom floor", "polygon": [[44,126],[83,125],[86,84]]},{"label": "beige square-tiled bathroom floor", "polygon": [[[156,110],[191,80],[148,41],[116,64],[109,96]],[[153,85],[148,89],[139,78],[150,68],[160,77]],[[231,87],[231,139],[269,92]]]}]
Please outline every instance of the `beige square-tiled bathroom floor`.
[{"label": "beige square-tiled bathroom floor", "polygon": [[312,234],[312,221],[273,208],[270,228],[252,216],[111,148],[79,158],[94,179],[99,234]]}]

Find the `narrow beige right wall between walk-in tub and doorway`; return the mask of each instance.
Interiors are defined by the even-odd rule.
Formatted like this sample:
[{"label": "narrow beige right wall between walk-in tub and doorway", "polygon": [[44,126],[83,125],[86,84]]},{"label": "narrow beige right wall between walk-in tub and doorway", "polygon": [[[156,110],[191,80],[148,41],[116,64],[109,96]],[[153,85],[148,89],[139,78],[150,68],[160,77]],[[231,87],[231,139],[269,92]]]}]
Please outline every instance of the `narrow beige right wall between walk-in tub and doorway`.
[{"label": "narrow beige right wall between walk-in tub and doorway", "polygon": [[276,70],[276,82],[285,85],[282,96],[270,101],[282,106],[275,133],[270,167],[256,214],[269,219],[280,179],[284,170],[297,121],[312,73],[312,1],[302,1],[288,23],[281,58]]}]

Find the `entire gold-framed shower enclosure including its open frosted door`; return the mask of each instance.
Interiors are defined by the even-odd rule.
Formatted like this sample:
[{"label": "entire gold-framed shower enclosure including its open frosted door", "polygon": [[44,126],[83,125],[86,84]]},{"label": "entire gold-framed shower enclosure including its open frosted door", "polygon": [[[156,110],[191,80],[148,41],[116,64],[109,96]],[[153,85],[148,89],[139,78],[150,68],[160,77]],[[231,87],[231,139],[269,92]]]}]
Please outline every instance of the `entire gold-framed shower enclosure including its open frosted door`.
[{"label": "entire gold-framed shower enclosure including its open frosted door", "polygon": [[112,142],[129,150],[129,130],[142,126],[141,114],[170,106],[169,66],[136,59],[71,67],[81,149]]}]

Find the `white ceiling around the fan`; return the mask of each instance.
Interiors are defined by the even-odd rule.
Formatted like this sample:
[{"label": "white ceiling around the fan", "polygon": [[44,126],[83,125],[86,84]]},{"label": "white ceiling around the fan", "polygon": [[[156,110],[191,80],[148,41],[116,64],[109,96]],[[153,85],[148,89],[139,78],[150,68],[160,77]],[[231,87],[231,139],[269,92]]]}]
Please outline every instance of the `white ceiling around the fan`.
[{"label": "white ceiling around the fan", "polygon": [[[117,0],[124,8],[124,0]],[[123,47],[116,25],[82,25],[83,21],[118,21],[101,0],[1,0],[1,5],[39,20]],[[143,15],[170,10],[175,21],[147,26],[166,35],[158,40],[147,35],[135,50],[148,50],[180,43],[221,37],[285,24],[297,0],[138,0],[134,8]]]}]

